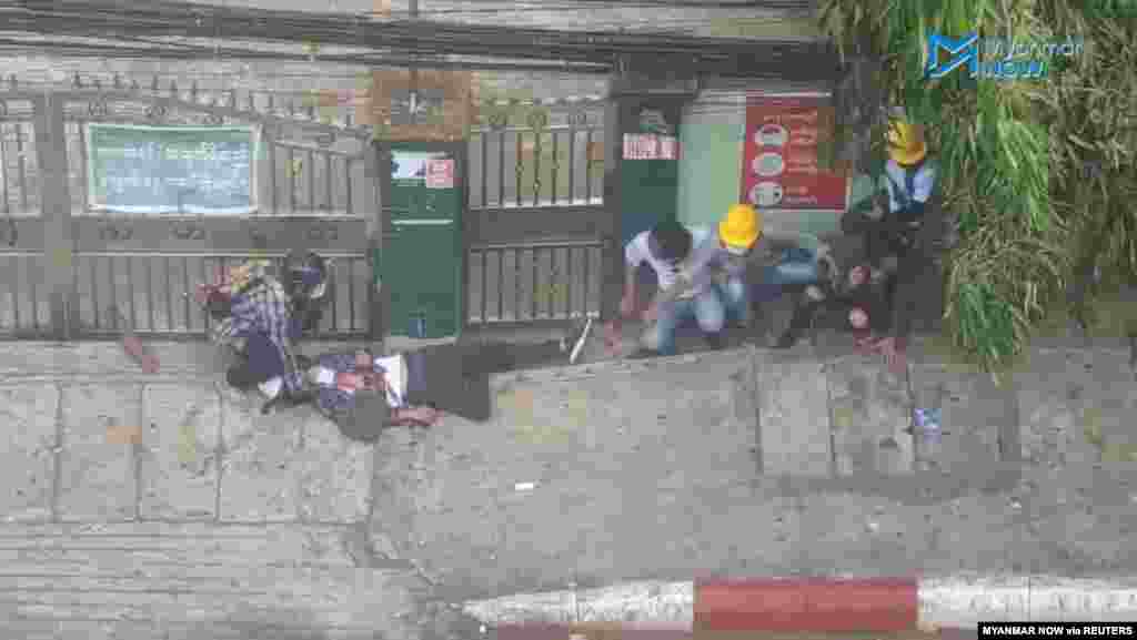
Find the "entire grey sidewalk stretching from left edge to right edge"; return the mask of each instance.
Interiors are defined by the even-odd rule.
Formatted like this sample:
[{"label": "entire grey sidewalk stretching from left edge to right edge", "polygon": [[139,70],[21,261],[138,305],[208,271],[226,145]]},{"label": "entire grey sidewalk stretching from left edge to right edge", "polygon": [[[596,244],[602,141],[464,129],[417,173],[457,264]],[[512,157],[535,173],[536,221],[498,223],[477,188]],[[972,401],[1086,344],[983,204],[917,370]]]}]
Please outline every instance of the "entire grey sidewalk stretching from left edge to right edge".
[{"label": "entire grey sidewalk stretching from left edge to right edge", "polygon": [[468,638],[450,604],[628,580],[1137,568],[1115,348],[1037,350],[1010,391],[919,346],[899,379],[840,344],[521,372],[488,424],[363,447],[153,347],[147,377],[115,343],[0,344],[22,637]]}]

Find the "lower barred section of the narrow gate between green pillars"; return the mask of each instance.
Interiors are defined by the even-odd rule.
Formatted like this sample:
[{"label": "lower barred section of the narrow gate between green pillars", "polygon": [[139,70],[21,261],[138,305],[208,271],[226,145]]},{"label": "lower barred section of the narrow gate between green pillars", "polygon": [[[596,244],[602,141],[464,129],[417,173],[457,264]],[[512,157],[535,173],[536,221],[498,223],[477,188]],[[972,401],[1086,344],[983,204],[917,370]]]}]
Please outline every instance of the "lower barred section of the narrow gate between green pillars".
[{"label": "lower barred section of the narrow gate between green pillars", "polygon": [[598,317],[604,240],[482,244],[466,261],[470,325]]}]

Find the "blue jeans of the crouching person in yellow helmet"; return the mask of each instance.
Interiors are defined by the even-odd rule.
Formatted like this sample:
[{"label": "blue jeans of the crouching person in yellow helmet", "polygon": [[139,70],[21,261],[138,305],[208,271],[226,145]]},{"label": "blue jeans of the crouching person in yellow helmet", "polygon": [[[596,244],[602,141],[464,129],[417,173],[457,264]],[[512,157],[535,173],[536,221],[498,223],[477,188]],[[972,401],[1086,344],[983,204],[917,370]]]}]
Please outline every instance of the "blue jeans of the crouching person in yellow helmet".
[{"label": "blue jeans of the crouching person in yellow helmet", "polygon": [[706,291],[675,300],[659,308],[655,326],[645,335],[645,347],[670,356],[675,352],[675,331],[692,318],[704,334],[716,334],[727,326],[727,319],[746,322],[750,316],[750,297],[746,283],[738,277],[725,285],[714,284]]}]

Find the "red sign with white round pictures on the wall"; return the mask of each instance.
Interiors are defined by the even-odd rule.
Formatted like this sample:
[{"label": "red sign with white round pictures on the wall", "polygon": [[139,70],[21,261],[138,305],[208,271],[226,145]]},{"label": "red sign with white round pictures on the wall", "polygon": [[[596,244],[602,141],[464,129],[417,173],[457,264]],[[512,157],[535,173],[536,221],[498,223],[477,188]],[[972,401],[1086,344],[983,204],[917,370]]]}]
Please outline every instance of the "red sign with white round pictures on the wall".
[{"label": "red sign with white round pictures on the wall", "polygon": [[771,209],[844,209],[846,177],[818,168],[818,139],[832,135],[821,98],[750,98],[742,146],[744,202]]}]

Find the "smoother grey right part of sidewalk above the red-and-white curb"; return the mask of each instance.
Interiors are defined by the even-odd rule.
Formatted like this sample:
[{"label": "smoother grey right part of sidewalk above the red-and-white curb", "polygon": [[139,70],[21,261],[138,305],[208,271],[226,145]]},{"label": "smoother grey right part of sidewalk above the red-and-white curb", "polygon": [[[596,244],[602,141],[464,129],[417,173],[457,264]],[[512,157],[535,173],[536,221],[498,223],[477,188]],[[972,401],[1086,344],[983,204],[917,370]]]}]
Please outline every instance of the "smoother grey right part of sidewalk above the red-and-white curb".
[{"label": "smoother grey right part of sidewalk above the red-and-white curb", "polygon": [[[1137,568],[1137,393],[1110,346],[1007,388],[835,346],[499,380],[499,415],[392,432],[377,539],[449,599],[634,580]],[[905,430],[943,410],[939,446]]]}]

